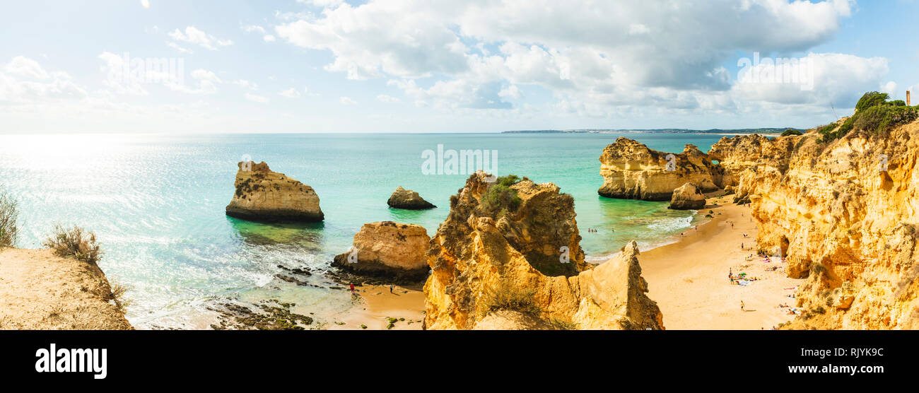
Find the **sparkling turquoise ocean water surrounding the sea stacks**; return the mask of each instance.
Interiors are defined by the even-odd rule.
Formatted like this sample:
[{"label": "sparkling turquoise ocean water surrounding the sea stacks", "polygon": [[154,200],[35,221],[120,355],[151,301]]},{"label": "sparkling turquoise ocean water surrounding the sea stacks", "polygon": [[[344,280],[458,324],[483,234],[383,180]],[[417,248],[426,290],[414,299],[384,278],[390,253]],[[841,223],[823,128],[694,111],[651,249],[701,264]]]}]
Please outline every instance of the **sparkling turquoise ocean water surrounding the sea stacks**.
[{"label": "sparkling turquoise ocean water surrounding the sea stacks", "polygon": [[[600,262],[627,241],[660,245],[694,224],[666,202],[599,197],[597,158],[619,136],[652,149],[707,151],[705,134],[284,134],[0,136],[0,185],[20,203],[20,247],[40,248],[55,223],[96,232],[108,279],[129,286],[127,317],[138,329],[205,329],[226,300],[296,303],[330,323],[352,307],[346,291],[296,286],[274,276],[289,268],[322,272],[346,252],[365,222],[394,220],[433,235],[449,197],[468,174],[424,174],[423,152],[497,152],[499,175],[559,185],[574,197],[582,247]],[[312,185],[325,220],[270,225],[226,217],[236,163],[244,155]],[[438,208],[388,208],[396,186]],[[587,232],[594,228],[597,232]],[[317,325],[321,326],[321,324]]]}]

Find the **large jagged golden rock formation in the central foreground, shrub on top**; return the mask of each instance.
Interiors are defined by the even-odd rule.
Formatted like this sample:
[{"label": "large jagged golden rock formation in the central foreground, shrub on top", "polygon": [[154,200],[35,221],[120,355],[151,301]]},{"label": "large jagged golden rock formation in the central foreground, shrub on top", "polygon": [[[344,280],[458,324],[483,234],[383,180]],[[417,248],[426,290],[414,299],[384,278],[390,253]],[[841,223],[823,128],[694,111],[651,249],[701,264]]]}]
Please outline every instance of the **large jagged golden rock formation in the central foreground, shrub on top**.
[{"label": "large jagged golden rock formation in the central foreground, shrub on top", "polygon": [[634,242],[592,268],[571,196],[525,179],[507,187],[519,202],[493,206],[502,184],[473,174],[451,197],[427,253],[426,329],[663,329]]}]

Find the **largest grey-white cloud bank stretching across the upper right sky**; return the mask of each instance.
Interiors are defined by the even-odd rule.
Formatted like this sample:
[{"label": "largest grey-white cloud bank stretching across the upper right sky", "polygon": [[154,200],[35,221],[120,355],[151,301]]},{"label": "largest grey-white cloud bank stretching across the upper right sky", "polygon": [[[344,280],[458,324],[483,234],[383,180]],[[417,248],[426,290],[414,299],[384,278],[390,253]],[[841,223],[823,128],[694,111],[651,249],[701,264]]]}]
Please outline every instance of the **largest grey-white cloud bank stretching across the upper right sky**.
[{"label": "largest grey-white cloud bank stretching across the upper right sky", "polygon": [[[713,0],[694,6],[369,0],[328,6],[321,16],[274,29],[293,45],[331,51],[334,60],[325,70],[350,79],[390,79],[424,105],[508,109],[514,107],[508,100],[522,96],[519,86],[528,84],[548,89],[558,110],[609,117],[638,107],[736,106],[745,98],[733,95],[732,75],[721,64],[737,52],[806,51],[832,38],[852,10],[848,0]],[[780,28],[786,26],[798,28]],[[868,68],[865,78],[872,79],[879,69]],[[432,76],[426,87],[414,84]],[[821,92],[837,97],[864,79],[830,70],[823,76]],[[766,102],[791,99],[759,95]]]}]

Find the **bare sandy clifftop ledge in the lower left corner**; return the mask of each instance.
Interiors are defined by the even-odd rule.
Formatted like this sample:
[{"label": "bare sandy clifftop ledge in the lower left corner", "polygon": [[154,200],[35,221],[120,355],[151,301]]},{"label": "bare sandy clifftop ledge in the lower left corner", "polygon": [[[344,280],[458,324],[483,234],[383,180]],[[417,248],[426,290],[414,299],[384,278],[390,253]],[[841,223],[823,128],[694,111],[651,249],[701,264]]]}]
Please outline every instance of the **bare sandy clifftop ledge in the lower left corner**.
[{"label": "bare sandy clifftop ledge in the lower left corner", "polygon": [[0,329],[131,329],[96,265],[50,250],[0,249]]}]

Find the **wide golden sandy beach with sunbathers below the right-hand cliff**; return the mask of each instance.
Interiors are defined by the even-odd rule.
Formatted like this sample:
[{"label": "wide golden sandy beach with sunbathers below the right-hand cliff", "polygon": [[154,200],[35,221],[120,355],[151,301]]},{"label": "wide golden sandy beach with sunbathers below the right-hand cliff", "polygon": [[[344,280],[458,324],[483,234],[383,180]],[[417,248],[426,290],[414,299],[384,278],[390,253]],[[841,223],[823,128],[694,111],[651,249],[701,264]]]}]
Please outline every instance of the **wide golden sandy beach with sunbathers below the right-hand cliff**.
[{"label": "wide golden sandy beach with sunbathers below the right-hand cliff", "polygon": [[[794,318],[789,309],[777,306],[795,306],[795,299],[788,298],[795,290],[788,288],[796,288],[801,280],[784,274],[780,258],[755,255],[756,224],[749,208],[731,199],[709,197],[699,214],[711,210],[712,219],[699,224],[698,230],[684,231],[678,241],[639,256],[648,295],[664,312],[667,329],[768,330]],[[773,267],[777,269],[766,270]],[[732,285],[729,271],[758,280]]]}]

